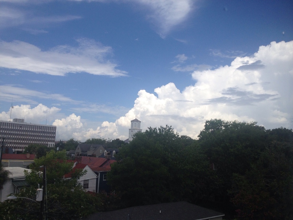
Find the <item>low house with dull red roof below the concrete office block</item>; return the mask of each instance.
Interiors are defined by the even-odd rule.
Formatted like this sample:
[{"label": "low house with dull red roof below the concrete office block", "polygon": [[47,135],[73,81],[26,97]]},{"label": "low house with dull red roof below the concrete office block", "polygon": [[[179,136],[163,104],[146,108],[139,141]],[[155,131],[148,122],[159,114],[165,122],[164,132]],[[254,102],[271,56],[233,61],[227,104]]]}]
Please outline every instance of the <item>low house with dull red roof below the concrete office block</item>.
[{"label": "low house with dull red roof below the concrete office block", "polygon": [[34,162],[34,154],[2,154],[2,164],[4,167],[23,167],[29,168],[29,165]]}]

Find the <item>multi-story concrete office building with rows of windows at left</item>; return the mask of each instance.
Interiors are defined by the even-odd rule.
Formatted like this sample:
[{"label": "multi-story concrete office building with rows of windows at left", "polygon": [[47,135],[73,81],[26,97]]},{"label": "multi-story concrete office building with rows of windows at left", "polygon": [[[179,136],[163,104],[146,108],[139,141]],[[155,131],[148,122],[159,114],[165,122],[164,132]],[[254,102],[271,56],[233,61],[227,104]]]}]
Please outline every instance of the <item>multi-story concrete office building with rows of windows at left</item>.
[{"label": "multi-story concrete office building with rows of windows at left", "polygon": [[54,147],[56,126],[25,123],[24,119],[0,121],[0,137],[4,137],[4,147],[23,151],[30,144]]}]

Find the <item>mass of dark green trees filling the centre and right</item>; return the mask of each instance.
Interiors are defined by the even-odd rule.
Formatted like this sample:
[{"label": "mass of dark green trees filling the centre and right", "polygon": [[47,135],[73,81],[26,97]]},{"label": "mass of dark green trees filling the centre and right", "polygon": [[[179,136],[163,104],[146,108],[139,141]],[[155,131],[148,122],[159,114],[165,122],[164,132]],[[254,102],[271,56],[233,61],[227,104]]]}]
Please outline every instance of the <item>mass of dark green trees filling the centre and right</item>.
[{"label": "mass of dark green trees filling the centre and right", "polygon": [[206,121],[198,140],[149,127],[119,152],[109,182],[125,206],[185,200],[239,219],[289,220],[292,134],[221,119]]}]

